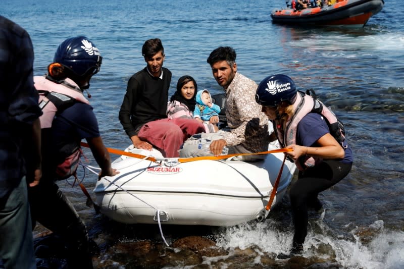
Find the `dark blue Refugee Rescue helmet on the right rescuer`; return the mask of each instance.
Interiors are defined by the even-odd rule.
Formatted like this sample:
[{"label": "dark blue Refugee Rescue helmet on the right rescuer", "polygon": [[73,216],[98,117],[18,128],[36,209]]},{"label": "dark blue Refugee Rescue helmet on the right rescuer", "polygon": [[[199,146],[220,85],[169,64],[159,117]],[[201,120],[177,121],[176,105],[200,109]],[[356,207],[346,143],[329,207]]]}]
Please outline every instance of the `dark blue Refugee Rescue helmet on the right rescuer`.
[{"label": "dark blue Refugee Rescue helmet on the right rescuer", "polygon": [[281,101],[289,101],[296,95],[293,80],[286,75],[266,77],[258,85],[256,101],[263,106],[277,106]]}]

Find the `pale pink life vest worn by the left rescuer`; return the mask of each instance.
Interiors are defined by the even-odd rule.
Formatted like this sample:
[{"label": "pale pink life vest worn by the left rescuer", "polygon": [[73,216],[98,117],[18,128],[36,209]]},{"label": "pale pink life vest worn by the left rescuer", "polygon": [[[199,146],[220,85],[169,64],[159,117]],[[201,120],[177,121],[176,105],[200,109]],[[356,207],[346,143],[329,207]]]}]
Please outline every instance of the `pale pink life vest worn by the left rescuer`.
[{"label": "pale pink life vest worn by the left rescuer", "polygon": [[89,104],[77,84],[69,78],[57,83],[46,76],[35,76],[34,86],[39,91],[39,107],[43,112],[39,117],[41,129],[52,127],[58,107],[68,107],[75,101]]}]

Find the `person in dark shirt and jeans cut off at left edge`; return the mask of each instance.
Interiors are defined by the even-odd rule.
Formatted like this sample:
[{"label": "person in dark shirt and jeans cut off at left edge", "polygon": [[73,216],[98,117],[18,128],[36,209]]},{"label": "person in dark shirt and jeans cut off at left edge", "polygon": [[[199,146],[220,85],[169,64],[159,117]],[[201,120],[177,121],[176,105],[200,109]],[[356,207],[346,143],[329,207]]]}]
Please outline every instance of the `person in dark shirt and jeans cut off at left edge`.
[{"label": "person in dark shirt and jeans cut off at left edge", "polygon": [[26,181],[33,179],[34,186],[41,176],[41,110],[33,62],[29,34],[0,16],[0,268],[36,268]]}]

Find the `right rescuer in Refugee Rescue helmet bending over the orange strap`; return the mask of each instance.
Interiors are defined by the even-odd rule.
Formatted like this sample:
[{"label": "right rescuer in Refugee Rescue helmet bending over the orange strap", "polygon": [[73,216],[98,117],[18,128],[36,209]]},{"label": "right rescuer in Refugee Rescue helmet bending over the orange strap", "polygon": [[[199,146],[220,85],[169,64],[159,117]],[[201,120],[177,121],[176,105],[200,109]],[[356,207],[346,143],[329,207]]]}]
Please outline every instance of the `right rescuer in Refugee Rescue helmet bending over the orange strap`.
[{"label": "right rescuer in Refugee Rescue helmet bending over the orange strap", "polygon": [[297,91],[293,80],[281,74],[265,78],[256,93],[279,143],[293,149],[286,154],[299,170],[289,191],[294,225],[292,255],[303,251],[308,207],[319,211],[323,205],[318,194],[346,177],[353,162],[342,123],[315,94],[308,93]]}]

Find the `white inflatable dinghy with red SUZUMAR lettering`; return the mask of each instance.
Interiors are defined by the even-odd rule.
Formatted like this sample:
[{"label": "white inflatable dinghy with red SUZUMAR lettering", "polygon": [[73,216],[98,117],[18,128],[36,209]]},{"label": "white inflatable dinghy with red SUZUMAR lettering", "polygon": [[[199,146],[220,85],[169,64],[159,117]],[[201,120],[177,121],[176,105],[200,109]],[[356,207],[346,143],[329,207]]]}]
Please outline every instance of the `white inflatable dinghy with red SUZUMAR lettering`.
[{"label": "white inflatable dinghy with red SUZUMAR lettering", "polygon": [[[269,150],[279,149],[278,145]],[[100,211],[122,223],[232,226],[263,219],[284,153],[246,163],[222,160],[164,158],[160,151],[129,146],[120,156],[114,177],[100,179],[94,189]],[[201,158],[201,157],[199,157]],[[295,165],[285,162],[272,207],[282,200]]]}]

